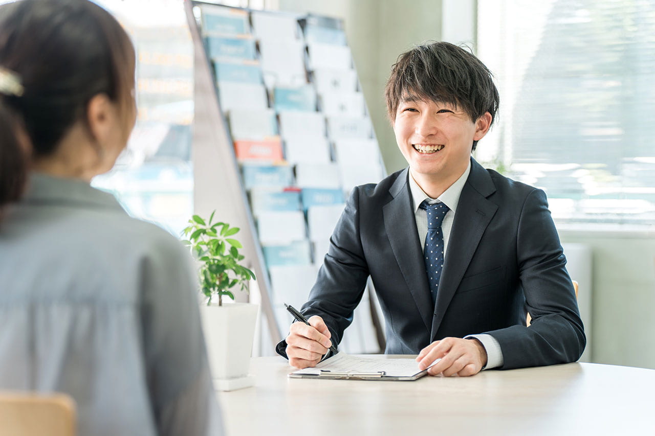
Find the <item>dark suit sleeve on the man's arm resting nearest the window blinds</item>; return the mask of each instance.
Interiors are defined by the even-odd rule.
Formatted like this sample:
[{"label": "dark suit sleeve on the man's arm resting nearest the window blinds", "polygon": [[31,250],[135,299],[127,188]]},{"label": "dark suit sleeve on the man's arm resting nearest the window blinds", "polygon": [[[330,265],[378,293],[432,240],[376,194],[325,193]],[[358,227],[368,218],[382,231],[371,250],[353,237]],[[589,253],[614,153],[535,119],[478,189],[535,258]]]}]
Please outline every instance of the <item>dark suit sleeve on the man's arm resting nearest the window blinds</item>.
[{"label": "dark suit sleeve on the man's arm resting nearest the window blinds", "polygon": [[517,228],[519,282],[532,322],[489,331],[500,344],[502,369],[576,361],[586,344],[575,291],[546,194],[531,191]]}]

